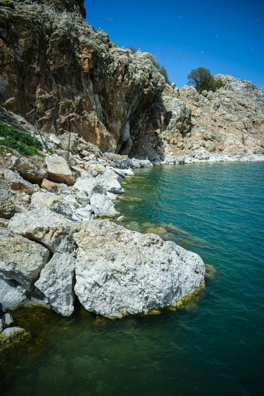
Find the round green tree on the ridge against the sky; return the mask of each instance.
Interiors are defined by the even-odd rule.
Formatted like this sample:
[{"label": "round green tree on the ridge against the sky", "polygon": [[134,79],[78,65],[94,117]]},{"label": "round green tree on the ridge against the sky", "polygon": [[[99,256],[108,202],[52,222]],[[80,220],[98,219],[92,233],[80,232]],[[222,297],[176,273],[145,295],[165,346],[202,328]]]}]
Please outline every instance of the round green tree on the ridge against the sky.
[{"label": "round green tree on the ridge against the sky", "polygon": [[187,78],[188,85],[193,85],[199,94],[204,90],[215,92],[224,86],[224,82],[212,76],[210,70],[205,67],[192,69]]}]

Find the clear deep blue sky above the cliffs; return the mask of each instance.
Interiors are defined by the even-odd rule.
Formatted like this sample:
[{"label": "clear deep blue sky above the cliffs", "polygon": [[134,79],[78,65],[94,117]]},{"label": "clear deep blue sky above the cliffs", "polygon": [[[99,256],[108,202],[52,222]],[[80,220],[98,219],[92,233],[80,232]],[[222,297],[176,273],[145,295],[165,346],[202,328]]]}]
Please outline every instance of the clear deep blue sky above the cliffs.
[{"label": "clear deep blue sky above the cliffs", "polygon": [[[251,80],[264,90],[263,0],[188,0],[180,4],[85,0],[84,6],[86,21],[96,30],[103,29],[120,47],[134,46],[154,54],[179,87],[186,84],[191,69],[203,66],[212,74]],[[176,51],[183,56],[179,58]]]}]

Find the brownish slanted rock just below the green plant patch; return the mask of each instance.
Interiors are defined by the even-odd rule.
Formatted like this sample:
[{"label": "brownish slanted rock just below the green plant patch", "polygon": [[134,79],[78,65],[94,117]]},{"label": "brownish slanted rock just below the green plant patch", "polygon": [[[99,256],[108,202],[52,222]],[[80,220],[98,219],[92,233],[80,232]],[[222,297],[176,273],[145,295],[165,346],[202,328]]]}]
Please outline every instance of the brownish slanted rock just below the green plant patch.
[{"label": "brownish slanted rock just below the green plant patch", "polygon": [[22,158],[12,157],[13,169],[17,170],[22,178],[29,180],[31,183],[39,184],[47,178],[47,172],[43,168],[37,168],[32,162],[25,161]]}]

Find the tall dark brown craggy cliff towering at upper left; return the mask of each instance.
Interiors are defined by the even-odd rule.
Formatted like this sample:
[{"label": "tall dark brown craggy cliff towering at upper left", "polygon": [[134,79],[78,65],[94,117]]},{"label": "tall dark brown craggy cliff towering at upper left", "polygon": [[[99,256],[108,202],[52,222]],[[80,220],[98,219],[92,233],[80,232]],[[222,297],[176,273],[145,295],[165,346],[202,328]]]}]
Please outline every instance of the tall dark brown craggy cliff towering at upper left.
[{"label": "tall dark brown craggy cliff towering at upper left", "polygon": [[163,123],[165,80],[151,55],[133,54],[84,21],[83,0],[0,2],[4,104],[45,134],[78,134],[102,151],[129,154]]}]

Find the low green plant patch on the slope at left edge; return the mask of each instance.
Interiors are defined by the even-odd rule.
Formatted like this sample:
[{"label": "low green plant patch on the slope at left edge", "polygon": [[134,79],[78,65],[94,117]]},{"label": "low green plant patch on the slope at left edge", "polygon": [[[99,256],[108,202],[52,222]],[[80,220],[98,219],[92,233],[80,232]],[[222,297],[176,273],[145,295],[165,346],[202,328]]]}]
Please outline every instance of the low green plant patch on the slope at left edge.
[{"label": "low green plant patch on the slope at left edge", "polygon": [[38,150],[42,149],[41,143],[38,140],[34,139],[27,132],[15,129],[3,121],[0,121],[0,137],[4,138],[0,140],[0,145],[7,147],[7,151],[9,152],[12,152],[10,149],[15,149],[25,157],[30,157],[31,155],[45,157],[38,152]]}]

